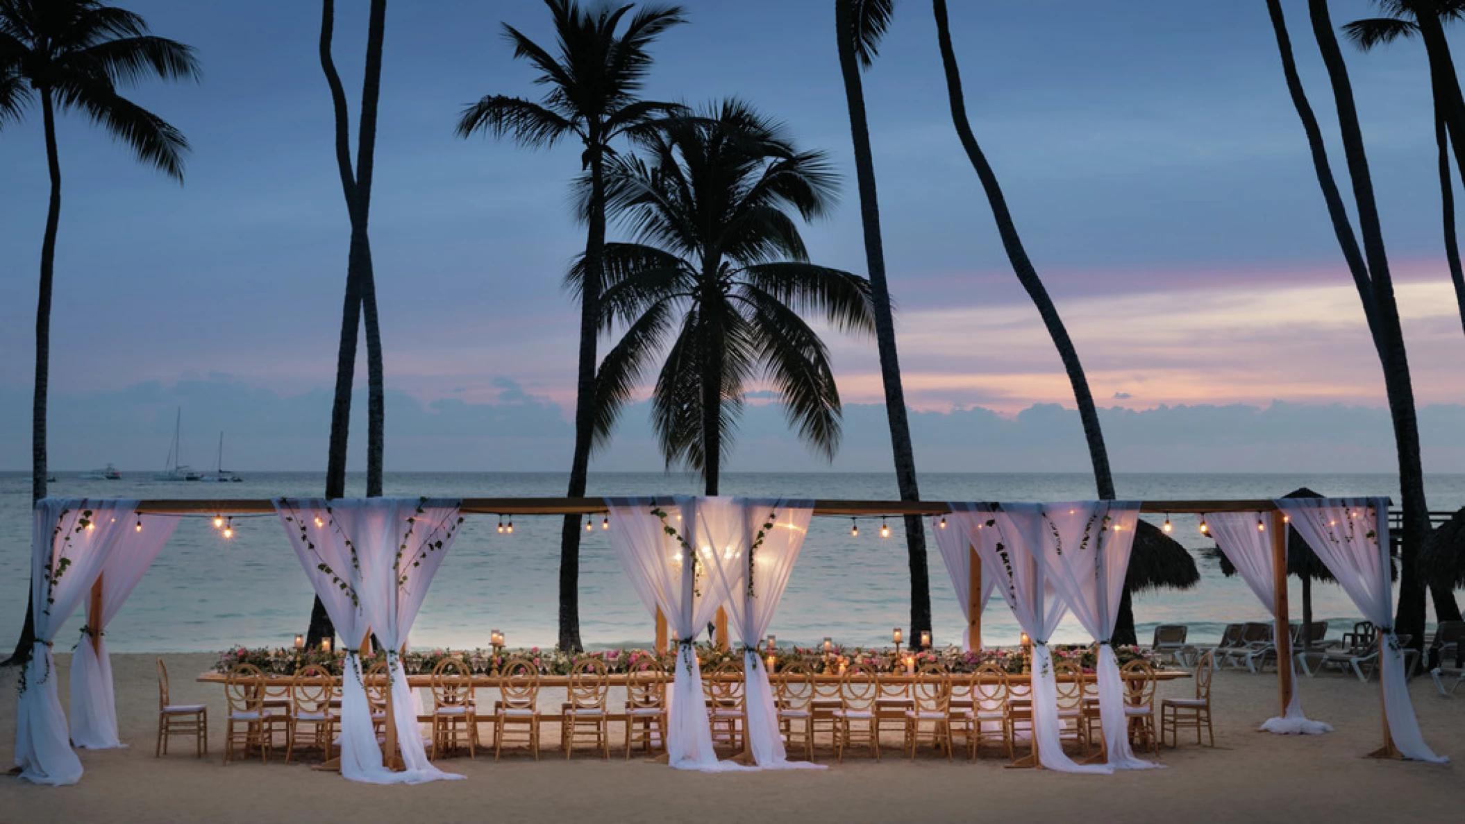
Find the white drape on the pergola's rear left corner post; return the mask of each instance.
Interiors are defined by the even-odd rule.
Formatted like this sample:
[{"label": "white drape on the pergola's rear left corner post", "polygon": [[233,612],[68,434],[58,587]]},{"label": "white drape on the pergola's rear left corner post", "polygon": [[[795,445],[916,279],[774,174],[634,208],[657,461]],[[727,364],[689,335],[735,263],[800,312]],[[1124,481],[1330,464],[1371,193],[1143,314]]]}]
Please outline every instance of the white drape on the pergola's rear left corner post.
[{"label": "white drape on the pergola's rear left corner post", "polygon": [[[123,518],[119,517],[119,523]],[[107,555],[101,569],[101,616],[103,631],[113,616],[142,581],[144,572],[152,565],[163,544],[173,537],[179,525],[176,515],[130,515],[129,528],[116,531],[116,546]],[[136,528],[138,525],[142,528]],[[92,621],[91,599],[85,600],[88,623]],[[117,738],[117,701],[111,685],[111,659],[107,654],[107,638],[92,640],[84,634],[72,656],[72,744],[88,749],[110,749],[126,746]]]}]

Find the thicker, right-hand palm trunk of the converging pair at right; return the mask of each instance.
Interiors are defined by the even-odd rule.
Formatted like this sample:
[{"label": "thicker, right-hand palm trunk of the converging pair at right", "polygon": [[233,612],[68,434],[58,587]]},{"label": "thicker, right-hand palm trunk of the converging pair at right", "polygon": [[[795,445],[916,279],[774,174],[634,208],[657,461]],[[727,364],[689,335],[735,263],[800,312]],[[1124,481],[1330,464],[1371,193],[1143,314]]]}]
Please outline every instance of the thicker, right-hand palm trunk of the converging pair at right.
[{"label": "thicker, right-hand palm trunk of the converging pair at right", "polygon": [[[1276,0],[1269,0],[1276,1]],[[1399,492],[1403,498],[1403,544],[1401,549],[1399,606],[1395,615],[1395,631],[1412,635],[1415,648],[1424,645],[1424,583],[1418,569],[1418,550],[1430,531],[1428,505],[1424,498],[1424,468],[1420,460],[1420,424],[1414,408],[1414,386],[1409,379],[1408,353],[1403,345],[1403,329],[1399,322],[1399,307],[1393,296],[1393,280],[1389,275],[1389,258],[1384,253],[1383,230],[1379,225],[1379,209],[1373,195],[1373,180],[1368,174],[1368,157],[1364,151],[1362,129],[1354,107],[1352,85],[1348,67],[1326,0],[1308,0],[1313,35],[1323,54],[1333,86],[1338,107],[1339,132],[1343,142],[1343,158],[1354,186],[1358,209],[1358,228],[1362,234],[1364,258],[1373,285],[1374,307],[1379,321],[1379,357],[1383,363],[1384,392],[1389,398],[1389,413],[1393,419],[1393,435],[1399,452]],[[1453,597],[1450,599],[1453,600]]]}]

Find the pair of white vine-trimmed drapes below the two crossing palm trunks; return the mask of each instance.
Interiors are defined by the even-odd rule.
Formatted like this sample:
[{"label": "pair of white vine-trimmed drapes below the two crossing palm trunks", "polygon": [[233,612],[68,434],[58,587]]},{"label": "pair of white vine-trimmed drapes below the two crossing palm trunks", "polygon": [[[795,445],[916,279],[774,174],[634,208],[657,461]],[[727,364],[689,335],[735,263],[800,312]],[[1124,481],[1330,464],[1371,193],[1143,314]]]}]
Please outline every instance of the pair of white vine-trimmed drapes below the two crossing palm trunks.
[{"label": "pair of white vine-trimmed drapes below the two crossing palm trunks", "polygon": [[[461,779],[434,767],[422,748],[397,651],[412,629],[432,575],[453,544],[457,501],[366,498],[280,499],[275,511],[300,566],[346,648],[341,678],[341,776],[372,784]],[[344,584],[344,587],[343,587]],[[397,746],[406,771],[382,763],[356,648],[374,632],[387,648]]]}]

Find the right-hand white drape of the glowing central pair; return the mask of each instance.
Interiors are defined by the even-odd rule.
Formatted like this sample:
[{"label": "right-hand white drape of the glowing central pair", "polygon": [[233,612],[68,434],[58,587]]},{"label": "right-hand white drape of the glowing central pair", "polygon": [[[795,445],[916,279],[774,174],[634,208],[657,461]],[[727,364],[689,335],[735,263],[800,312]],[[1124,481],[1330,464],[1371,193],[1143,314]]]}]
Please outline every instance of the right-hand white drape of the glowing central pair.
[{"label": "right-hand white drape of the glowing central pair", "polygon": [[[790,761],[778,729],[778,707],[757,645],[768,632],[813,517],[810,501],[703,498],[697,501],[697,544],[722,553],[709,565],[716,599],[725,602],[743,644],[747,742],[763,770],[822,770]],[[718,547],[722,547],[718,550]]]}]

